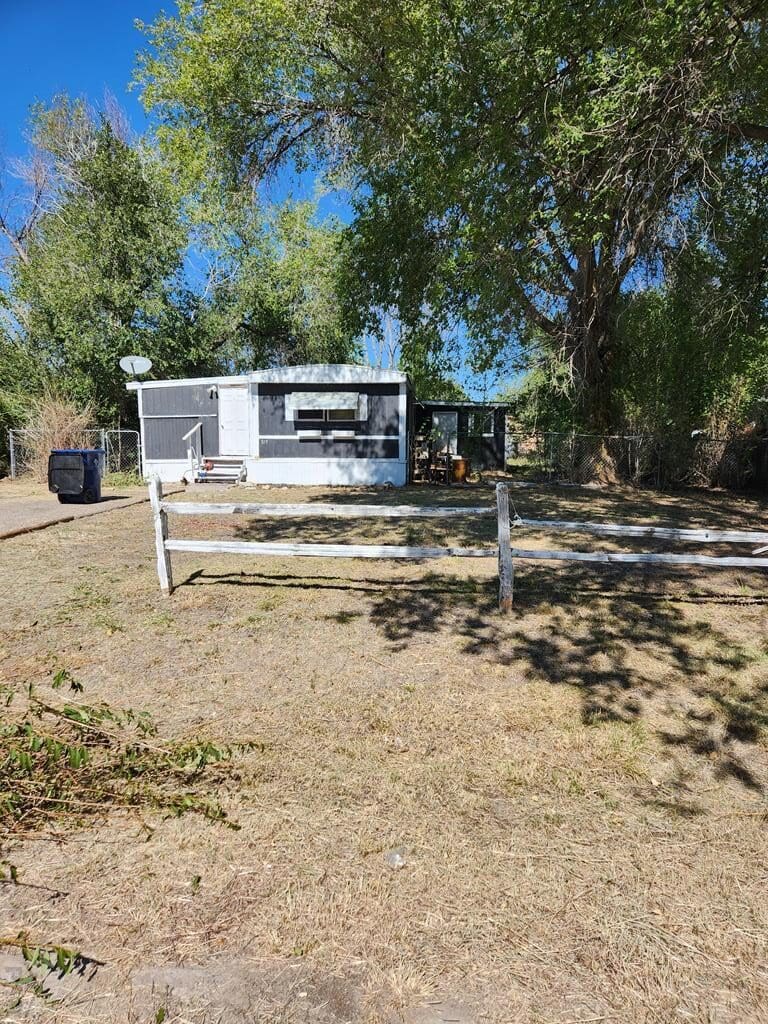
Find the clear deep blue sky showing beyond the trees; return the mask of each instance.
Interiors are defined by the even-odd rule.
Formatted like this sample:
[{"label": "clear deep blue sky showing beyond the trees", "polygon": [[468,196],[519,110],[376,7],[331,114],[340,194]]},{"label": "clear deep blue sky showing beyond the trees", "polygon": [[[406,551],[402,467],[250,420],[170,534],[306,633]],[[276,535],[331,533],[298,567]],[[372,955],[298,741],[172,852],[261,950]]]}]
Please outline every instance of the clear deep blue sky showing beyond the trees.
[{"label": "clear deep blue sky showing beyond the trees", "polygon": [[[0,0],[0,158],[25,154],[30,106],[59,92],[96,105],[112,92],[141,133],[147,120],[138,91],[129,89],[136,53],[144,46],[135,22],[151,23],[175,7],[174,0]],[[284,177],[270,198],[289,191],[311,198],[311,175]],[[348,216],[342,197],[325,197],[319,211]],[[471,380],[466,373],[459,379],[473,397],[493,388],[489,380]]]}]

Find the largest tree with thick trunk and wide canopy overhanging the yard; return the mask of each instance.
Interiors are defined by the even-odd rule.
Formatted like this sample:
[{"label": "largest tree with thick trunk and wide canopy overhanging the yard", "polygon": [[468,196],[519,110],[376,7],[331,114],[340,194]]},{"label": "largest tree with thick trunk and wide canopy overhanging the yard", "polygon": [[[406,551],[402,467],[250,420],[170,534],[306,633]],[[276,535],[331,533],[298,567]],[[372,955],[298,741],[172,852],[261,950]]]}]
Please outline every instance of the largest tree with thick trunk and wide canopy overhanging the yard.
[{"label": "largest tree with thick trunk and wide canopy overhanging the yard", "polygon": [[603,426],[659,223],[768,141],[765,30],[754,0],[181,0],[140,75],[233,181],[342,175],[372,308],[536,336]]}]

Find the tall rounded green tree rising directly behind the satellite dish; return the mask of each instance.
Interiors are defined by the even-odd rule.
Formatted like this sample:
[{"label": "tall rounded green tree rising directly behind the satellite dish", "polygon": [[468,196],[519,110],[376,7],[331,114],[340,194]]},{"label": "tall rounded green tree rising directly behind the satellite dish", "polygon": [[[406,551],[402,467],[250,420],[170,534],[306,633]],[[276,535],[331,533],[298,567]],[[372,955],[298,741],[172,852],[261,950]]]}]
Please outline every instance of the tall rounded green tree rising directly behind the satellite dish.
[{"label": "tall rounded green tree rising directly behind the satellite dish", "polygon": [[152,154],[121,135],[80,101],[36,111],[50,196],[8,268],[6,331],[102,422],[131,415],[121,356],[148,355],[161,375],[210,361],[181,278],[176,197]]}]

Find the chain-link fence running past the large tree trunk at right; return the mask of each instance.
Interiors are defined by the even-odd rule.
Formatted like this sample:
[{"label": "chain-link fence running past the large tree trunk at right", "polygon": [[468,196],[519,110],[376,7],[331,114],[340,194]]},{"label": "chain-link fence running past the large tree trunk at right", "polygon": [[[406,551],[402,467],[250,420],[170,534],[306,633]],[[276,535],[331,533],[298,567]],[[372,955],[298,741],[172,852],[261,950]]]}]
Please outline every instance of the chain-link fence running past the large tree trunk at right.
[{"label": "chain-link fence running past the large tree trunk at right", "polygon": [[768,488],[768,438],[703,433],[507,435],[507,464],[568,483]]}]

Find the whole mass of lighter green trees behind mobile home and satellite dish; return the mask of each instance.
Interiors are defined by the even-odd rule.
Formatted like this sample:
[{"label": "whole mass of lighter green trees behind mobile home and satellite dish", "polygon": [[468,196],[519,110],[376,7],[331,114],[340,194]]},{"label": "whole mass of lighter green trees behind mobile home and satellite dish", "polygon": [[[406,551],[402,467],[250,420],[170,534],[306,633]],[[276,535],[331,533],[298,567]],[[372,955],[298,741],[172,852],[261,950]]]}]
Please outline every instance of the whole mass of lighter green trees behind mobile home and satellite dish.
[{"label": "whole mass of lighter green trees behind mobile home and satellite dish", "polygon": [[314,204],[265,208],[213,173],[190,187],[117,108],[67,96],[33,110],[31,142],[15,211],[0,209],[8,422],[36,386],[132,420],[119,368],[131,352],[161,377],[359,357],[345,241]]}]

